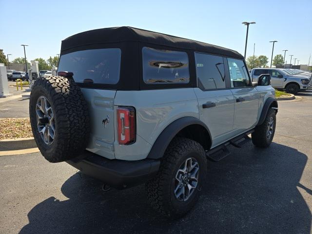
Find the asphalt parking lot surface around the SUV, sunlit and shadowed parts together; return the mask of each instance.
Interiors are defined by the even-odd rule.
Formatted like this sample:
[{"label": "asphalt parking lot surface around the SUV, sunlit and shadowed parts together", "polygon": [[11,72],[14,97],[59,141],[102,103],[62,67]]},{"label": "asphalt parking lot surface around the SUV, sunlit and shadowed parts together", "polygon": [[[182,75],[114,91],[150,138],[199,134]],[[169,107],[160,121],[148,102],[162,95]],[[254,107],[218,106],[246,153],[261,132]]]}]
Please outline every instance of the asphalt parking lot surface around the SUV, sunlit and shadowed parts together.
[{"label": "asphalt parking lot surface around the SUV, sunlit and shadowed parts together", "polygon": [[39,153],[0,157],[0,233],[309,234],[312,221],[312,90],[279,102],[273,144],[248,143],[209,163],[195,208],[167,220],[144,186],[102,191],[102,183]]}]

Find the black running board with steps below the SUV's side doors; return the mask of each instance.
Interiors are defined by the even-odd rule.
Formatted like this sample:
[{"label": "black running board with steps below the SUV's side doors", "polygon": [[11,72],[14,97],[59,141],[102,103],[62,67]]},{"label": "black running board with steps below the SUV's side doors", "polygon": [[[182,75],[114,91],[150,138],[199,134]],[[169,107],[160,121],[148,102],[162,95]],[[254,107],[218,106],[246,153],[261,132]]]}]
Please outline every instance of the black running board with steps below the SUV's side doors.
[{"label": "black running board with steps below the SUV's side doors", "polygon": [[254,129],[248,131],[244,134],[241,134],[233,139],[223,143],[222,145],[218,145],[217,147],[211,149],[210,151],[206,151],[206,156],[208,159],[214,162],[218,162],[221,159],[229,156],[231,152],[229,151],[228,147],[230,144],[234,147],[241,148],[244,144],[250,142],[251,138],[248,137],[249,134],[253,133]]}]

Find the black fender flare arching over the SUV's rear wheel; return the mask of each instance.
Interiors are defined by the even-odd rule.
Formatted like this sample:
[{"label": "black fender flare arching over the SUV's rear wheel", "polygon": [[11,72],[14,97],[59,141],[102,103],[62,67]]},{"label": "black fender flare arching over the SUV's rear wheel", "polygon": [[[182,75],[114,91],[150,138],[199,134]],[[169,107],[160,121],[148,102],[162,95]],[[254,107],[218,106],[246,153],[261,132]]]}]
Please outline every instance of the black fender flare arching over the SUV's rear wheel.
[{"label": "black fender flare arching over the SUV's rear wheel", "polygon": [[148,154],[147,158],[150,158],[150,159],[161,158],[164,155],[164,153],[165,153],[168,145],[172,141],[172,139],[176,136],[176,134],[178,132],[180,132],[183,128],[185,128],[189,125],[193,125],[193,124],[199,124],[199,125],[203,126],[208,131],[210,140],[212,140],[208,127],[206,126],[206,124],[204,124],[198,118],[195,118],[195,117],[178,118],[175,121],[173,121],[171,124],[169,124],[159,134],[159,136],[157,137],[154,145],[152,146],[152,149],[150,150],[150,153]]}]

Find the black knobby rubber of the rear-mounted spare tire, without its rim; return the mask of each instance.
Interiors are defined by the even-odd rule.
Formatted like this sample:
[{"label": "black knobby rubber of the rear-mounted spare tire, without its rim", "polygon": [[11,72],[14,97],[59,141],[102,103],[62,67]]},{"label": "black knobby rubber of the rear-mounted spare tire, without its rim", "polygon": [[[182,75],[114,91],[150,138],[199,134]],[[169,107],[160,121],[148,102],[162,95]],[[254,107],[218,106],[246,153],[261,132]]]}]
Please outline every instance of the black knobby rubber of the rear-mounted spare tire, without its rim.
[{"label": "black knobby rubber of the rear-mounted spare tire, without its rim", "polygon": [[[37,127],[36,105],[41,96],[47,98],[54,112],[56,131],[51,144],[44,142]],[[49,162],[69,160],[86,148],[90,131],[88,108],[72,78],[51,76],[37,79],[30,95],[29,114],[35,141]]]}]

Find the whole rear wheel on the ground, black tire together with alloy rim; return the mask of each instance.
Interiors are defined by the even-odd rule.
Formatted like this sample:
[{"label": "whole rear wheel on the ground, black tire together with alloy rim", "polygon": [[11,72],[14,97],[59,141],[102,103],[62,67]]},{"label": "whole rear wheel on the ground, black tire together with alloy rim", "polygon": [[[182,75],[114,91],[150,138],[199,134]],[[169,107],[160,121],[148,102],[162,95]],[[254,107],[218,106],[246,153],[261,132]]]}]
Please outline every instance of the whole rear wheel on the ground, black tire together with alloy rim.
[{"label": "whole rear wheel on the ground, black tire together with alloy rim", "polygon": [[165,216],[185,215],[198,200],[206,173],[203,147],[194,140],[176,137],[168,146],[157,175],[145,185],[148,200]]}]

